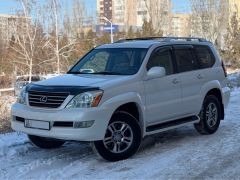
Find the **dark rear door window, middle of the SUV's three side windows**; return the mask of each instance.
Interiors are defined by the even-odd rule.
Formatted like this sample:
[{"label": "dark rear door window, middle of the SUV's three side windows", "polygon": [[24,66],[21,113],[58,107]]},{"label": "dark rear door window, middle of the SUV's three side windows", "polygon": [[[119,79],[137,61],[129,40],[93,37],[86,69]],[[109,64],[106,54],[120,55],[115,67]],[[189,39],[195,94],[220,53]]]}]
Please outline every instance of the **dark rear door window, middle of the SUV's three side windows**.
[{"label": "dark rear door window, middle of the SUV's three side windows", "polygon": [[192,71],[198,68],[198,63],[193,56],[192,48],[177,47],[174,52],[179,72]]}]

